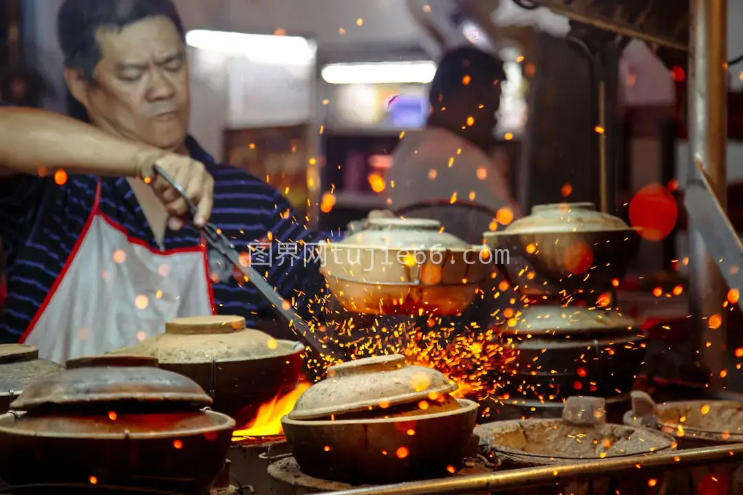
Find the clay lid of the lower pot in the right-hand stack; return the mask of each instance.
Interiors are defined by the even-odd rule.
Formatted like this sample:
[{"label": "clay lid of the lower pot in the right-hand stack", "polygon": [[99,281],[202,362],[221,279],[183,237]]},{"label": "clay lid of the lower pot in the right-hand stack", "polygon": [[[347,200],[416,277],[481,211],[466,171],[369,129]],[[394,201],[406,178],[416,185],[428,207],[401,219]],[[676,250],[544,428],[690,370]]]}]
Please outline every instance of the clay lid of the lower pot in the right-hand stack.
[{"label": "clay lid of the lower pot in the right-hand stack", "polygon": [[585,306],[531,304],[514,315],[502,328],[502,333],[520,335],[572,334],[580,332],[622,332],[637,327],[637,321],[614,309]]}]

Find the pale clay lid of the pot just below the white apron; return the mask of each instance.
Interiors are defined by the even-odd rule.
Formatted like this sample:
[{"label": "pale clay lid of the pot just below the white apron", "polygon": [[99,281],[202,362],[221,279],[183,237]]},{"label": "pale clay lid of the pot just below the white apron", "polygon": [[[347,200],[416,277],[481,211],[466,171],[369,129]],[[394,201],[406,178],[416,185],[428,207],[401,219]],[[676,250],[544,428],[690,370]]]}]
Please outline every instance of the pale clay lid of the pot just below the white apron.
[{"label": "pale clay lid of the pot just below the white apron", "polygon": [[247,329],[245,318],[209,315],[176,318],[165,324],[165,333],[113,354],[149,355],[160,364],[204,364],[276,358],[301,353],[299,342],[277,340],[265,332]]}]

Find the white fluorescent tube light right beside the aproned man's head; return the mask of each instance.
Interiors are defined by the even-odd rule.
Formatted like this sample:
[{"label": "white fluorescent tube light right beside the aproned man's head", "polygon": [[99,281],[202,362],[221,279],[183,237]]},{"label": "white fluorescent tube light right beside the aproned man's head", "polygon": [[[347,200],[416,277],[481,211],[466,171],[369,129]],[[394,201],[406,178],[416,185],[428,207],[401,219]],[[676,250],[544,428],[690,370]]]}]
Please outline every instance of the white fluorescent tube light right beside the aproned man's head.
[{"label": "white fluorescent tube light right beside the aproned man's head", "polygon": [[314,60],[317,45],[300,36],[191,30],[186,44],[201,50],[247,56],[256,62],[306,64]]}]

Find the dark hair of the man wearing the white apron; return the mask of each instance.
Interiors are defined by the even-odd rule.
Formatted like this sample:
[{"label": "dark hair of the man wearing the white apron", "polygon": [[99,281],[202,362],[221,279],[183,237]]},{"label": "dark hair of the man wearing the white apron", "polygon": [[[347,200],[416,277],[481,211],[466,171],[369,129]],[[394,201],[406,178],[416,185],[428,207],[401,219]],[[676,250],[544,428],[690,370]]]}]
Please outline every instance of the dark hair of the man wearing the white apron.
[{"label": "dark hair of the man wearing the white apron", "polygon": [[181,38],[185,38],[181,16],[171,0],[65,0],[57,16],[57,36],[65,65],[83,71],[92,81],[102,55],[97,30],[120,30],[155,16],[170,19]]}]

